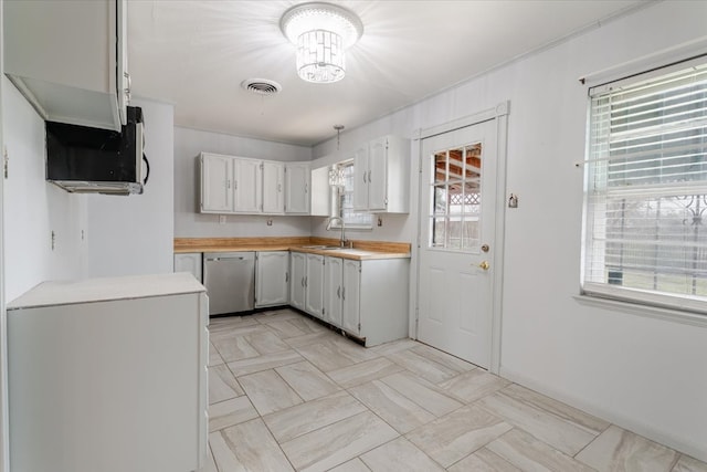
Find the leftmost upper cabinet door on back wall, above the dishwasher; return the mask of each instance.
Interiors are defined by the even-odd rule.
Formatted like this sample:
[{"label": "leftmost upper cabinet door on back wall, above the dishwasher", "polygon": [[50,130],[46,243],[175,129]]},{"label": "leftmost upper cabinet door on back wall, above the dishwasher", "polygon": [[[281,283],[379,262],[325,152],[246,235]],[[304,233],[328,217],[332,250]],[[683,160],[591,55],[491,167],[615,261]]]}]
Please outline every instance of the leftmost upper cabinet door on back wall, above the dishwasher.
[{"label": "leftmost upper cabinet door on back wall, above the dishwasher", "polygon": [[233,212],[233,158],[201,154],[201,211]]}]

